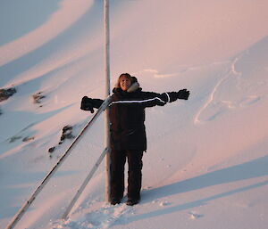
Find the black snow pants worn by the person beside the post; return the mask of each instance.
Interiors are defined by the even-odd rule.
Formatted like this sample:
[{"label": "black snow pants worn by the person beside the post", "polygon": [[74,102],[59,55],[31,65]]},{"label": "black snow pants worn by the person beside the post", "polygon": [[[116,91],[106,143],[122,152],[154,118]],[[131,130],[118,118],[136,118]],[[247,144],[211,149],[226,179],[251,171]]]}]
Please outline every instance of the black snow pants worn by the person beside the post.
[{"label": "black snow pants worn by the person beside the post", "polygon": [[128,198],[139,200],[143,151],[111,151],[111,200],[121,200],[124,192],[124,166],[128,159]]}]

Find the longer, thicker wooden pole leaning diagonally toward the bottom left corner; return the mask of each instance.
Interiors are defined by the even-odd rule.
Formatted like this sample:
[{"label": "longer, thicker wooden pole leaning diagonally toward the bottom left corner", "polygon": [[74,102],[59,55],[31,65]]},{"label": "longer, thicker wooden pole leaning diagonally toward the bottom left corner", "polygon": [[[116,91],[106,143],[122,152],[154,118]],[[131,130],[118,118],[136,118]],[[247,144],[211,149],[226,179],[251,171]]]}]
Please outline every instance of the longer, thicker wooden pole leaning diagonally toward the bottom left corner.
[{"label": "longer, thicker wooden pole leaning diagonally toward the bottom left corner", "polygon": [[58,160],[58,162],[55,164],[54,168],[52,168],[51,171],[46,175],[46,177],[41,182],[41,184],[39,184],[36,191],[33,192],[32,195],[29,197],[29,199],[23,204],[21,209],[17,212],[17,214],[13,217],[13,219],[10,221],[10,223],[5,227],[5,229],[12,229],[21,220],[21,217],[24,215],[24,213],[27,211],[27,209],[29,209],[29,206],[32,204],[32,202],[37,198],[38,193],[41,192],[41,190],[47,184],[49,179],[54,175],[56,170],[63,164],[63,161],[67,158],[68,155],[70,155],[73,147],[80,142],[81,136],[86,133],[86,130],[88,129],[88,127],[92,126],[92,124],[96,121],[96,119],[100,116],[100,114],[109,105],[110,99],[111,99],[110,96],[105,99],[105,102],[102,103],[100,108],[96,111],[96,114],[88,122],[87,126],[81,130],[80,134],[74,139],[73,143],[71,143],[71,146],[68,148],[68,150],[63,153],[63,156]]}]

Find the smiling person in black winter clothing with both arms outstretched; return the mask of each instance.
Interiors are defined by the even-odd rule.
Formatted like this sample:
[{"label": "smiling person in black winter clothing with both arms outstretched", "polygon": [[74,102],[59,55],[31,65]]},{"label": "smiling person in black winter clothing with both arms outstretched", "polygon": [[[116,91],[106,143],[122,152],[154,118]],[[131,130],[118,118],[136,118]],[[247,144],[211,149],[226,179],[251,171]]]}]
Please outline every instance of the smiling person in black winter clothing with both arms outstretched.
[{"label": "smiling person in black winter clothing with both arms outstretched", "polygon": [[[127,205],[135,205],[140,200],[142,179],[142,157],[147,150],[145,127],[145,109],[153,106],[163,106],[167,102],[178,99],[188,100],[189,91],[157,94],[143,92],[138,80],[129,73],[123,73],[113,88],[110,102],[110,133],[111,133],[111,204],[121,203],[124,192],[124,166],[128,159],[128,200]],[[99,108],[104,102],[84,96],[81,110]]]}]

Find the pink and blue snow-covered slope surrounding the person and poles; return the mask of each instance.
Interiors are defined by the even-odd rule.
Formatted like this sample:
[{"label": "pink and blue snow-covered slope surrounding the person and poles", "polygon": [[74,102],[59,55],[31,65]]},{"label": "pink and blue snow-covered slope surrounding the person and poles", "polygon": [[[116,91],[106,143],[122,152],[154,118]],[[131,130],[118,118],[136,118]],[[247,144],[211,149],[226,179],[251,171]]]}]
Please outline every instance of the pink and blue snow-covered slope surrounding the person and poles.
[{"label": "pink and blue snow-covered slope surrounding the person and poles", "polygon": [[[268,2],[111,1],[111,81],[190,90],[147,109],[142,200],[105,202],[105,167],[60,218],[104,149],[104,118],[40,192],[17,228],[265,229],[268,224]],[[105,98],[103,1],[0,3],[0,228],[4,228]],[[45,97],[34,103],[32,95]],[[56,146],[52,153],[48,149]]]}]

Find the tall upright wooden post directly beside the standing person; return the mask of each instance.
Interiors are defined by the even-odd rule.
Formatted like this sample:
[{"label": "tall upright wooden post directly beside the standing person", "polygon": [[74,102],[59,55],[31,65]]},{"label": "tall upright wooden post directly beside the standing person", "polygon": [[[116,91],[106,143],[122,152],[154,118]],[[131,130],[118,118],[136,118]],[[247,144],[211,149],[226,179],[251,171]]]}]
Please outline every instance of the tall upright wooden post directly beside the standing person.
[{"label": "tall upright wooden post directly beside the standing person", "polygon": [[[110,25],[109,25],[109,0],[104,0],[105,22],[105,95],[110,95]],[[105,200],[110,200],[110,120],[109,107],[105,110]]]}]

